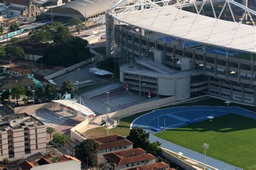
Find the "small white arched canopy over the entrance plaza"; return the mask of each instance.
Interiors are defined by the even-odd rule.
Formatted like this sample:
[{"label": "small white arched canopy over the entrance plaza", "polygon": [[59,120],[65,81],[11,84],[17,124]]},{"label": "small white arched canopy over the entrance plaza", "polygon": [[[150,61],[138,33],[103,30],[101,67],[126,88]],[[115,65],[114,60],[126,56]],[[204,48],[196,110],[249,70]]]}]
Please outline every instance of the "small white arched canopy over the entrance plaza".
[{"label": "small white arched canopy over the entrance plaza", "polygon": [[79,104],[76,101],[72,101],[72,100],[52,100],[52,101],[55,103],[62,104],[64,106],[68,106],[68,107],[72,108],[73,110],[80,112],[86,116],[87,115],[93,115],[93,116],[96,115],[93,111],[90,110],[90,108],[88,108],[82,104]]}]

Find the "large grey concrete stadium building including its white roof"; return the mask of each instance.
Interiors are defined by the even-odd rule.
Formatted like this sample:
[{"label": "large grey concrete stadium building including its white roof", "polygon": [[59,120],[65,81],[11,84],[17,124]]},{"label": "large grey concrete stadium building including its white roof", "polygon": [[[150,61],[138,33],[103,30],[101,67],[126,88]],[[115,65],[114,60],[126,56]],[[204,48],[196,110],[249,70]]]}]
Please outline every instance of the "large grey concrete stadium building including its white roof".
[{"label": "large grey concrete stadium building including its white roof", "polygon": [[173,6],[118,8],[106,13],[106,55],[111,57],[111,44],[119,46],[125,89],[177,100],[210,94],[256,104],[254,26]]}]

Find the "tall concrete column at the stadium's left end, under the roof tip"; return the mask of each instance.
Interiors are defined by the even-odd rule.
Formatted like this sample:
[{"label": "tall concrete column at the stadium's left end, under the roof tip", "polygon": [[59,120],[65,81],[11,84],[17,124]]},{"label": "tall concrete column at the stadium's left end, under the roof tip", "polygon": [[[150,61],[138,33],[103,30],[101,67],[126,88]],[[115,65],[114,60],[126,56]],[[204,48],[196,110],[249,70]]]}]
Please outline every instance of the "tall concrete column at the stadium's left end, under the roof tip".
[{"label": "tall concrete column at the stadium's left end, under the roof tip", "polygon": [[113,18],[106,12],[106,58],[111,57],[111,32],[113,29]]}]

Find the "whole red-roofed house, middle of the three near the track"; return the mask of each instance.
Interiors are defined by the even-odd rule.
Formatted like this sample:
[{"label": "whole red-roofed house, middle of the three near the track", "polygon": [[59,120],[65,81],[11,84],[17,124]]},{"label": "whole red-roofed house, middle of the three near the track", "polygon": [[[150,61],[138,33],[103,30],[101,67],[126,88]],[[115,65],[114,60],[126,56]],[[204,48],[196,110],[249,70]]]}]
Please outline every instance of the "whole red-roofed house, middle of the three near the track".
[{"label": "whole red-roofed house, middle of the three near the track", "polygon": [[142,148],[104,154],[105,169],[129,169],[156,163],[156,157]]}]

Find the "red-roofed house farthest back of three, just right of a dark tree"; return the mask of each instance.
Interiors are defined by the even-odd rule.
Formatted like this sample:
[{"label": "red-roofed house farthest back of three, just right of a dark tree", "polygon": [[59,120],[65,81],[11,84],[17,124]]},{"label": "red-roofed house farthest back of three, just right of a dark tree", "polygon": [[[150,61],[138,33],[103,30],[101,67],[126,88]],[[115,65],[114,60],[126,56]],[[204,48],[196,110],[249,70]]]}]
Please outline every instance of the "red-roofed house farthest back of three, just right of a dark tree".
[{"label": "red-roofed house farthest back of three, just right of a dark tree", "polygon": [[97,164],[104,164],[104,154],[116,151],[125,151],[133,148],[133,142],[115,134],[101,138],[94,138],[99,143],[97,151]]}]

